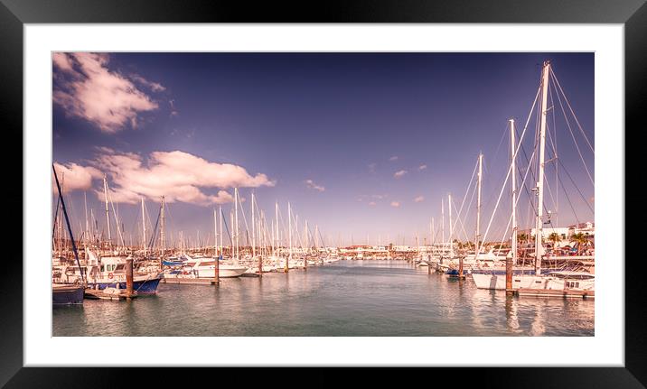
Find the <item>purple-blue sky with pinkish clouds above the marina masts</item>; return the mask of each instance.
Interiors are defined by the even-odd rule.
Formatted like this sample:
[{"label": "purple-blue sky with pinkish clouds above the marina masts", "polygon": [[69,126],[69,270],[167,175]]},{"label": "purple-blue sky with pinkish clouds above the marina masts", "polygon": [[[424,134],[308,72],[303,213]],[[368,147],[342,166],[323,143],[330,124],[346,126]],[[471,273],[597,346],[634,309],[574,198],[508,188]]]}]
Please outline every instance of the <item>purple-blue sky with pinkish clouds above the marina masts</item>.
[{"label": "purple-blue sky with pinkish clouds above the marina masts", "polygon": [[[155,224],[164,196],[171,239],[182,231],[212,242],[213,209],[229,218],[238,187],[247,218],[252,191],[267,218],[278,202],[285,226],[289,201],[299,228],[307,219],[326,245],[412,245],[416,236],[421,244],[440,240],[441,199],[449,235],[449,194],[455,237],[474,239],[474,184],[466,190],[483,153],[481,233],[501,240],[511,215],[510,181],[502,191],[508,119],[520,135],[544,60],[564,93],[551,81],[544,207],[555,227],[595,221],[593,53],[58,52],[53,162],[77,233],[84,198],[99,230],[106,228],[105,174],[135,240],[141,199],[146,222]],[[536,109],[518,184],[533,151]],[[520,228],[532,220],[528,181]]]}]

